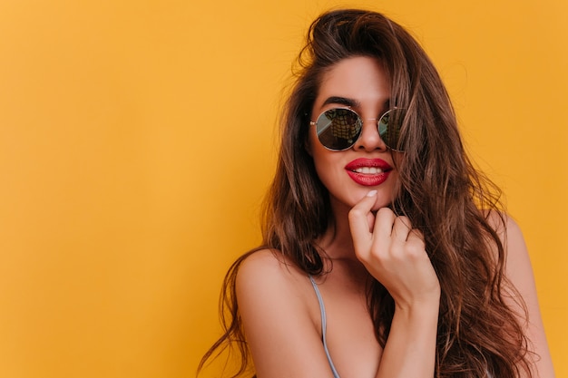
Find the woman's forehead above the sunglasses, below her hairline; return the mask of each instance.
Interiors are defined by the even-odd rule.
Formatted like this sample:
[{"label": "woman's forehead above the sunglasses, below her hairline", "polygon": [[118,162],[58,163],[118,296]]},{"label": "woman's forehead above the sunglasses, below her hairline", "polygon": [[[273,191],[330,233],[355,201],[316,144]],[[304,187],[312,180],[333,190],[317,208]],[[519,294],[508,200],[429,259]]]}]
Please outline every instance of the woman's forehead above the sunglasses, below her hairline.
[{"label": "woman's forehead above the sunglasses, below her hairline", "polygon": [[344,59],[323,74],[314,109],[329,98],[351,99],[361,106],[384,104],[390,98],[390,83],[382,63],[372,57]]}]

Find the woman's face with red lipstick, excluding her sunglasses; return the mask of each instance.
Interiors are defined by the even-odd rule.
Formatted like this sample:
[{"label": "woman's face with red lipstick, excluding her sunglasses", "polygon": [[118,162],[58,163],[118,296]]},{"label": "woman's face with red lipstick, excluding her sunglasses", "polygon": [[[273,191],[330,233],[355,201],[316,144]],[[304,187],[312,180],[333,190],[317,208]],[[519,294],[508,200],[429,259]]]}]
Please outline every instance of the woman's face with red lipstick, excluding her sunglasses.
[{"label": "woman's face with red lipstick, excluding her sunglasses", "polygon": [[372,189],[377,190],[374,210],[393,201],[398,172],[391,152],[378,135],[376,121],[388,111],[389,101],[387,75],[375,58],[348,58],[324,74],[311,121],[316,121],[323,111],[338,107],[348,107],[363,119],[358,140],[342,151],[326,149],[318,141],[316,126],[310,126],[308,152],[334,208],[352,208]]}]

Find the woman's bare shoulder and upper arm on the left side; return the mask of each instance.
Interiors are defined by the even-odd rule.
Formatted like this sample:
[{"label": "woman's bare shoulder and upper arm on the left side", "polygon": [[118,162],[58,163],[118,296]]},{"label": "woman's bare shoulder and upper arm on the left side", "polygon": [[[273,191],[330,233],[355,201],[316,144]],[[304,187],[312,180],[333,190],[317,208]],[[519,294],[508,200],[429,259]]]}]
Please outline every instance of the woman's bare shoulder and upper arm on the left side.
[{"label": "woman's bare shoulder and upper arm on the left side", "polygon": [[[237,276],[242,325],[259,378],[330,378],[308,277],[269,250],[248,257]],[[314,303],[317,305],[317,302]],[[318,307],[314,307],[318,310]]]}]

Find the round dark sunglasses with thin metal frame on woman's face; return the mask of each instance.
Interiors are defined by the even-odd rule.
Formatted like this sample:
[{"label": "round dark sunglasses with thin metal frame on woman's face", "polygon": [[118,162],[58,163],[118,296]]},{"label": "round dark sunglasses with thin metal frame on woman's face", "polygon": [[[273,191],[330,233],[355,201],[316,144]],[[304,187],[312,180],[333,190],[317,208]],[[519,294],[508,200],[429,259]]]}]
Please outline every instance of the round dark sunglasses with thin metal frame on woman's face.
[{"label": "round dark sunglasses with thin metal frame on woman's face", "polygon": [[[400,129],[405,119],[406,110],[394,108],[385,112],[377,121],[378,135],[390,150],[402,152],[398,146]],[[334,108],[319,114],[317,121],[310,121],[316,126],[319,142],[328,150],[348,150],[357,141],[363,129],[363,119],[348,108]]]}]

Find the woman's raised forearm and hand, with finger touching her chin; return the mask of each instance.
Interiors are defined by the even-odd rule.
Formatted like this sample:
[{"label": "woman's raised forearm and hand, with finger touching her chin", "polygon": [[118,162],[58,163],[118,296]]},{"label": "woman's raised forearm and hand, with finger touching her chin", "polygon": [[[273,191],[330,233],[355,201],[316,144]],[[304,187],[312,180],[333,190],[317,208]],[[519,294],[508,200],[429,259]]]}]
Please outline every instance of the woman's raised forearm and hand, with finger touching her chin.
[{"label": "woman's raised forearm and hand, with finger touching her chin", "polygon": [[426,254],[424,237],[406,217],[389,208],[373,215],[369,192],[349,212],[357,258],[395,300],[395,315],[377,378],[432,378],[440,285]]}]

